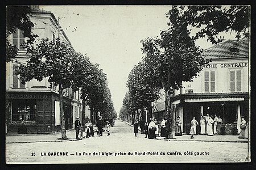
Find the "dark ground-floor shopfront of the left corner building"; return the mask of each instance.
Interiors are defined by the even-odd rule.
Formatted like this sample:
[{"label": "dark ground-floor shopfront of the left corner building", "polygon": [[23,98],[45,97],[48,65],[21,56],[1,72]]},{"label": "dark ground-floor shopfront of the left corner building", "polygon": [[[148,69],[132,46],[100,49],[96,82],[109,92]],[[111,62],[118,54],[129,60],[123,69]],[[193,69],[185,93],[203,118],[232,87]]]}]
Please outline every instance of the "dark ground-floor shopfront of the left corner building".
[{"label": "dark ground-floor shopfront of the left corner building", "polygon": [[[65,128],[73,127],[72,100],[64,97]],[[60,131],[59,96],[54,92],[6,92],[7,134]]]}]

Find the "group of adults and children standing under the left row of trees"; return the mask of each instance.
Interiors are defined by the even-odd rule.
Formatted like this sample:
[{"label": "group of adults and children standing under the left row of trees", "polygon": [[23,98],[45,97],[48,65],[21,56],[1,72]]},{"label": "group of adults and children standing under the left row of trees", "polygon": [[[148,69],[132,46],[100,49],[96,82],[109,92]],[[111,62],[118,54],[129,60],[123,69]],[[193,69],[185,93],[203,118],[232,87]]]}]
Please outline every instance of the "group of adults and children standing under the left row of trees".
[{"label": "group of adults and children standing under the left row of trees", "polygon": [[[106,121],[106,123],[102,120],[101,117],[99,117],[97,121],[97,135],[102,136],[102,133],[104,131],[104,128],[106,127],[106,131],[108,132],[108,135],[110,135],[110,127],[112,125],[110,124],[109,121]],[[84,130],[83,130],[84,128]],[[86,138],[89,137],[94,137],[94,129],[93,129],[93,124],[90,120],[86,121],[85,126],[81,125],[81,121],[79,120],[79,117],[76,118],[75,121],[75,130],[76,130],[76,138],[77,139],[82,139],[82,131],[85,131]]]}]

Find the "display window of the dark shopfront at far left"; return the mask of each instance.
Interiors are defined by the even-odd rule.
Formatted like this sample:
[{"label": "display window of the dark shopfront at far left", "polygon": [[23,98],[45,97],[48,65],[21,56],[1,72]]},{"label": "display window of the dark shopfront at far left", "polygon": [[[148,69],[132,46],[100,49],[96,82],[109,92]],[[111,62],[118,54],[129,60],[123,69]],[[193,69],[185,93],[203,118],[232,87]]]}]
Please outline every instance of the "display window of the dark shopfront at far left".
[{"label": "display window of the dark shopfront at far left", "polygon": [[13,101],[11,124],[36,124],[36,104],[33,101]]}]

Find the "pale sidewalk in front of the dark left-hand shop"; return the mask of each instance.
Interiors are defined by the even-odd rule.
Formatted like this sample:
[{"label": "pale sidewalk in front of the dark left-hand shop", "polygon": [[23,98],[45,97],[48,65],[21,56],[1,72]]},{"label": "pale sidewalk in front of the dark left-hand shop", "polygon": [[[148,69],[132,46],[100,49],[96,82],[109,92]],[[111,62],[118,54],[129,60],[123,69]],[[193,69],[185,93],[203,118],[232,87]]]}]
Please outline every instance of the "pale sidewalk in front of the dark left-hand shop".
[{"label": "pale sidewalk in front of the dark left-hand shop", "polygon": [[[66,130],[67,140],[65,141],[77,141],[76,131]],[[84,132],[83,132],[84,134]],[[31,142],[65,142],[61,140],[61,132],[56,134],[24,134],[24,135],[6,135],[6,143],[31,143]]]}]

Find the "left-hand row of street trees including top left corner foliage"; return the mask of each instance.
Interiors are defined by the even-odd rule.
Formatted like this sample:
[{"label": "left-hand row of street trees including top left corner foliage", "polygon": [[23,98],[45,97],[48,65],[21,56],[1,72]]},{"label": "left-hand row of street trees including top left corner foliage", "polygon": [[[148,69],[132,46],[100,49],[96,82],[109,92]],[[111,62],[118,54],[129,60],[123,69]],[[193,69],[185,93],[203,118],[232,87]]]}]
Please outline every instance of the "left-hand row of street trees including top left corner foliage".
[{"label": "left-hand row of street trees including top left corner foliage", "polygon": [[[30,57],[26,64],[20,63],[15,70],[16,74],[20,75],[22,83],[32,79],[41,81],[43,78],[48,78],[51,84],[49,88],[59,86],[62,139],[67,139],[63,112],[63,90],[65,88],[81,90],[82,122],[85,123],[85,105],[90,107],[92,121],[93,113],[98,112],[104,117],[110,115],[117,117],[106,74],[97,63],[91,63],[86,54],[76,52],[71,44],[61,42],[60,39],[55,41],[41,39],[38,44],[34,44],[37,36],[31,32],[34,23],[29,19],[31,15],[29,6],[9,6],[6,8],[6,15],[6,37],[19,28],[24,31],[24,37],[28,38],[25,47]],[[6,38],[6,62],[15,60],[17,50]]]}]

